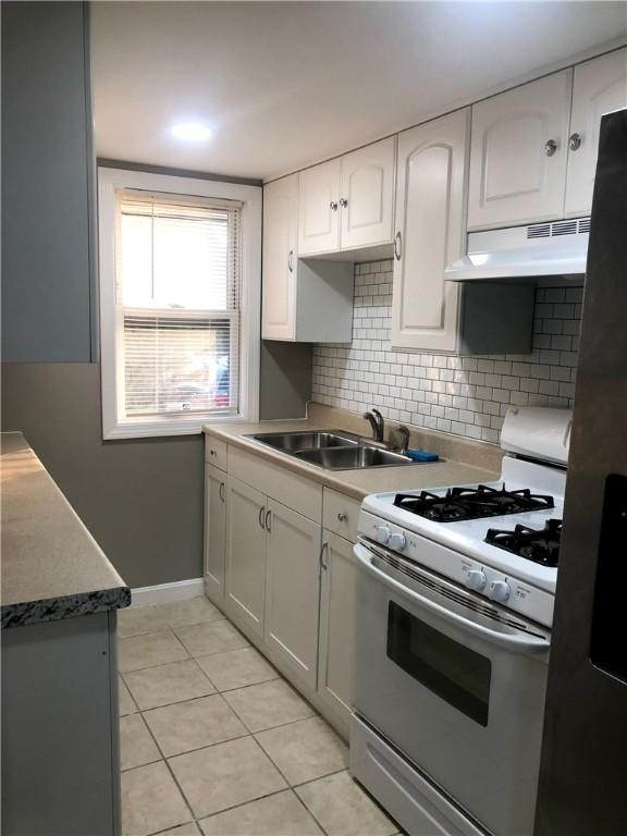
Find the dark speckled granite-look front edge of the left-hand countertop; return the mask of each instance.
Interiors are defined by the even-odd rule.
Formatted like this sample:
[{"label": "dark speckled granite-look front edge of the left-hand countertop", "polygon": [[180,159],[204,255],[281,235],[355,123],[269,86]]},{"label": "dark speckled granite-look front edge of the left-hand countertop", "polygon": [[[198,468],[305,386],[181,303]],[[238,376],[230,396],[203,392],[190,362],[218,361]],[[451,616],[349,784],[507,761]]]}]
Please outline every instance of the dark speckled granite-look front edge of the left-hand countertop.
[{"label": "dark speckled granite-look front edge of the left-hand countertop", "polygon": [[75,618],[79,615],[104,613],[130,605],[131,590],[128,587],[76,592],[71,595],[42,599],[40,601],[21,601],[14,604],[2,605],[0,626],[4,630],[11,627]]}]

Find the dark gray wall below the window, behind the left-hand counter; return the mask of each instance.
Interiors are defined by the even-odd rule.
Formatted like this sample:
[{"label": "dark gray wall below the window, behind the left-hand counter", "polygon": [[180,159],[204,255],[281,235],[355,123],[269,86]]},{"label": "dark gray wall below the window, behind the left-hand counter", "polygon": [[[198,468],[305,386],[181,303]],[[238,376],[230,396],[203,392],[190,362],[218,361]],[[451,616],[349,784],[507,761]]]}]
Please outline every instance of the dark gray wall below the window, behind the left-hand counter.
[{"label": "dark gray wall below the window, behind the left-hand counter", "polygon": [[2,429],[24,432],[128,586],[201,576],[200,435],[103,442],[95,364],[3,364]]}]

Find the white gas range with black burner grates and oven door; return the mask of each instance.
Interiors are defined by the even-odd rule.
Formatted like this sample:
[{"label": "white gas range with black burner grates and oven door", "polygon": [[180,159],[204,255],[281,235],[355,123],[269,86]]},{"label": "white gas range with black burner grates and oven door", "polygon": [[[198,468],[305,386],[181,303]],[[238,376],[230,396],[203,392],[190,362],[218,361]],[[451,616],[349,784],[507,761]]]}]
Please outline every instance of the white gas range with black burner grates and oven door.
[{"label": "white gas range with black burner grates and oven door", "polygon": [[531,836],[571,415],[511,409],[501,478],[368,496],[351,769],[415,836]]}]

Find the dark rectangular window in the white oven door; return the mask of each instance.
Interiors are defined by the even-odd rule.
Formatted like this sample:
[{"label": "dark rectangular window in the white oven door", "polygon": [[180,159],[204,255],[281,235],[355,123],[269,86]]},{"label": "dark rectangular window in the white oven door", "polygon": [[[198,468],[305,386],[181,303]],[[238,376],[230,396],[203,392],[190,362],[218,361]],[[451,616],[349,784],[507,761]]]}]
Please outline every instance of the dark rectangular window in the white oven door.
[{"label": "dark rectangular window in the white oven door", "polygon": [[390,602],[388,656],[471,720],[488,725],[492,663]]}]

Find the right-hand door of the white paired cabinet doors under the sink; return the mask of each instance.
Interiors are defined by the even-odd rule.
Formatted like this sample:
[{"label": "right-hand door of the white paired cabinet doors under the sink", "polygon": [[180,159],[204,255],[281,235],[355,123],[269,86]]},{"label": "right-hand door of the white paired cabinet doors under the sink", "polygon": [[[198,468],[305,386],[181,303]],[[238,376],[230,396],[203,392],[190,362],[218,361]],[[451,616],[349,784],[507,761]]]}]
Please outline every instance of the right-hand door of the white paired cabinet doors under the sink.
[{"label": "right-hand door of the white paired cabinet doors under the sink", "polygon": [[268,508],[266,642],[315,689],[321,527],[273,500]]}]

